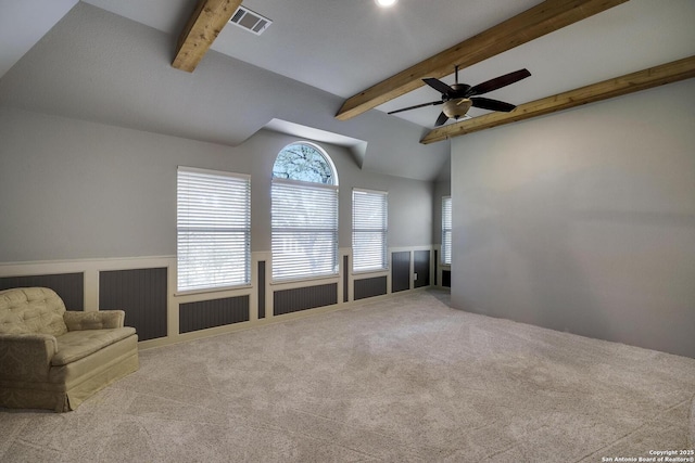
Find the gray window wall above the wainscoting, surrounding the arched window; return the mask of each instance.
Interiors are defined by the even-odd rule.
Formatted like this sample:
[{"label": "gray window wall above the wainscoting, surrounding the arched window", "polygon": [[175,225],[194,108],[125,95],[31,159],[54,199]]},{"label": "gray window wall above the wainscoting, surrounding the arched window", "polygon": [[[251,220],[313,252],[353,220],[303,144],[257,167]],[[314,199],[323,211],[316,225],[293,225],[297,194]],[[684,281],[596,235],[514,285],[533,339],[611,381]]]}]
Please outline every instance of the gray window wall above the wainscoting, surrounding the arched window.
[{"label": "gray window wall above the wainscoting, surrounding the arched window", "polygon": [[[252,176],[252,248],[270,249],[270,172],[294,137],[232,147],[0,106],[0,262],[176,254],[178,165]],[[389,245],[432,243],[432,182],[363,171],[319,143],[340,181],[341,247],[352,188],[389,191]]]}]

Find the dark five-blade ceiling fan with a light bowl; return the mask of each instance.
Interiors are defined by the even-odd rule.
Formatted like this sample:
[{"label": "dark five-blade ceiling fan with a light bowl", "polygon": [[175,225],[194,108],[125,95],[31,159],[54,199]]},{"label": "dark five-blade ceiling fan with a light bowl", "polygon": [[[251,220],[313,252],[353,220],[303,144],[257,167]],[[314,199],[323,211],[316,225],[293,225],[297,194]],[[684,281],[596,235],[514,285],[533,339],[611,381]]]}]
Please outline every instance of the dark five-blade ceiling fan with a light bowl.
[{"label": "dark five-blade ceiling fan with a light bowl", "polygon": [[425,83],[442,94],[441,100],[416,104],[415,106],[403,107],[401,110],[392,111],[388,114],[395,114],[403,111],[416,110],[418,107],[443,104],[443,111],[434,123],[434,126],[437,127],[441,126],[450,118],[458,119],[459,117],[465,116],[471,106],[480,107],[482,110],[503,111],[505,113],[508,113],[510,111],[514,111],[514,108],[516,107],[514,104],[476,95],[501,89],[502,87],[506,87],[510,83],[518,82],[521,79],[526,79],[531,75],[528,69],[519,69],[515,70],[514,73],[505,74],[504,76],[495,77],[494,79],[490,79],[482,83],[478,83],[475,87],[471,87],[467,83],[458,83],[458,66],[455,66],[455,68],[456,83],[454,83],[453,86],[448,86],[441,80],[431,77],[422,79]]}]

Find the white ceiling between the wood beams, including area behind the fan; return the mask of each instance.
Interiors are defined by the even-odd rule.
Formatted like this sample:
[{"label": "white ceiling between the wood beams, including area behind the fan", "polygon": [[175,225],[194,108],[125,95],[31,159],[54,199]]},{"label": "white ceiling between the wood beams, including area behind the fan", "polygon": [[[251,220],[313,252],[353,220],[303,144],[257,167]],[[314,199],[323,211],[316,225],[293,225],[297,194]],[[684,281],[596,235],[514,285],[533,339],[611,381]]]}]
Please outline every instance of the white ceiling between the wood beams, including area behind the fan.
[{"label": "white ceiling between the wood beams, including area behind the fan", "polygon": [[[86,0],[130,20],[178,34],[187,0]],[[382,9],[374,0],[244,0],[274,21],[262,35],[228,26],[213,50],[344,99],[472,37],[538,0],[401,0]],[[532,77],[491,98],[526,103],[573,88],[685,57],[695,52],[695,1],[631,0],[561,30],[462,70],[476,85],[519,68]],[[453,83],[452,75],[442,80]],[[424,87],[378,107],[389,112],[439,100]],[[431,127],[441,106],[400,113]],[[470,115],[484,114],[471,110]]]}]

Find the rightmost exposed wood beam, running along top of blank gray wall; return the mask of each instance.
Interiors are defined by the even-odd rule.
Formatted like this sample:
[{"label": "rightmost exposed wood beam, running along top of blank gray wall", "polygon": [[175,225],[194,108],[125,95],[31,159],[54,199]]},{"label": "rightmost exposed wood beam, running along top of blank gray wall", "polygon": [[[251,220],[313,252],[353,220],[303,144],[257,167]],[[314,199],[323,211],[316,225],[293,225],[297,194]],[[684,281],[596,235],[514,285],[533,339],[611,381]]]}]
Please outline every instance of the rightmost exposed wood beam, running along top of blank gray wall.
[{"label": "rightmost exposed wood beam, running along top of blank gray wall", "polygon": [[530,119],[556,111],[568,110],[586,103],[607,100],[627,93],[646,90],[665,83],[677,82],[695,77],[695,55],[683,60],[673,61],[648,69],[627,74],[615,79],[558,93],[530,103],[520,104],[511,113],[490,113],[472,119],[451,124],[431,130],[420,140],[428,144],[446,140],[453,137],[465,136],[492,127]]}]

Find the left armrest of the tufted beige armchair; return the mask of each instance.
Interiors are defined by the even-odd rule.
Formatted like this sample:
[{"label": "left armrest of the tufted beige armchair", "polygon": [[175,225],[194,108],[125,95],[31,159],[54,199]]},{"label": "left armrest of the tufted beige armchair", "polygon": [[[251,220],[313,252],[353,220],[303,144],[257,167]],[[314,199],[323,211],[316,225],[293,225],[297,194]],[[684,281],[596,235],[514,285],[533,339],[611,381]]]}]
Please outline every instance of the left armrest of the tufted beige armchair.
[{"label": "left armrest of the tufted beige armchair", "polygon": [[45,381],[56,350],[50,334],[0,334],[0,380]]}]

